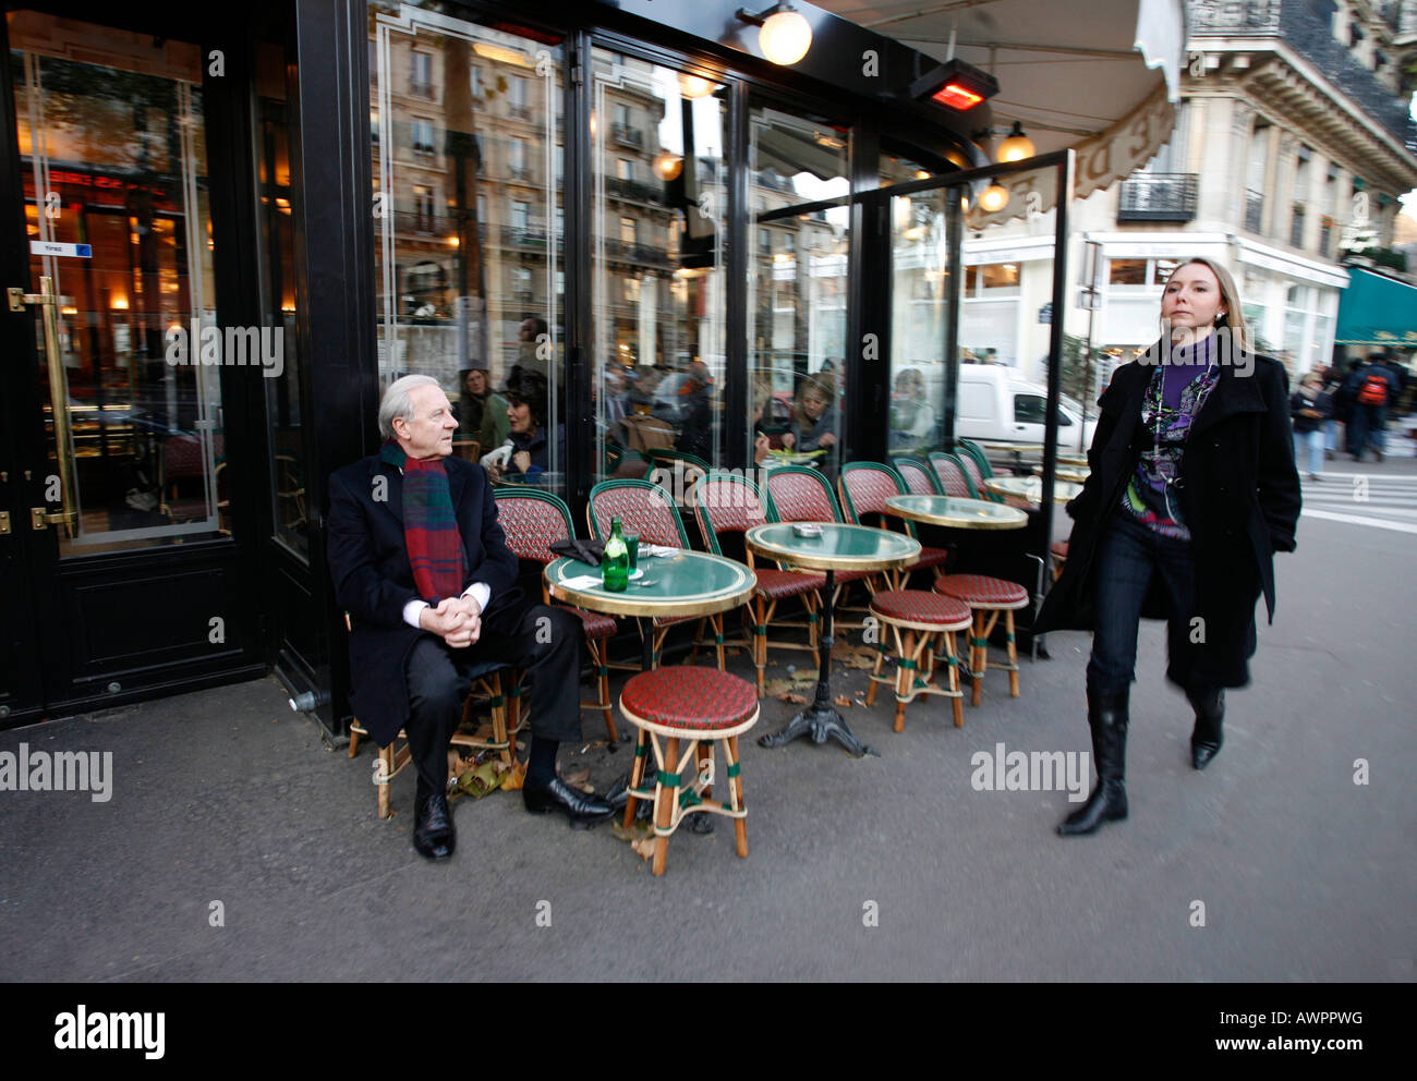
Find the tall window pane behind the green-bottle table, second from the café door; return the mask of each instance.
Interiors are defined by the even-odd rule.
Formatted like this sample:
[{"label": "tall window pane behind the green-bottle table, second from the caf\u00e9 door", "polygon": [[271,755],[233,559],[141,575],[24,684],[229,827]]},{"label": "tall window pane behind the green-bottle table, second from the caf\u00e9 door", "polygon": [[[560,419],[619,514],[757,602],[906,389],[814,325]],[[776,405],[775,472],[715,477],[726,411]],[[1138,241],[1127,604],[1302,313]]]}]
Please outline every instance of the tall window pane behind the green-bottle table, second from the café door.
[{"label": "tall window pane behind the green-bottle table, second from the caf\u00e9 door", "polygon": [[592,69],[597,475],[642,475],[626,451],[724,465],[727,95],[604,48]]}]

